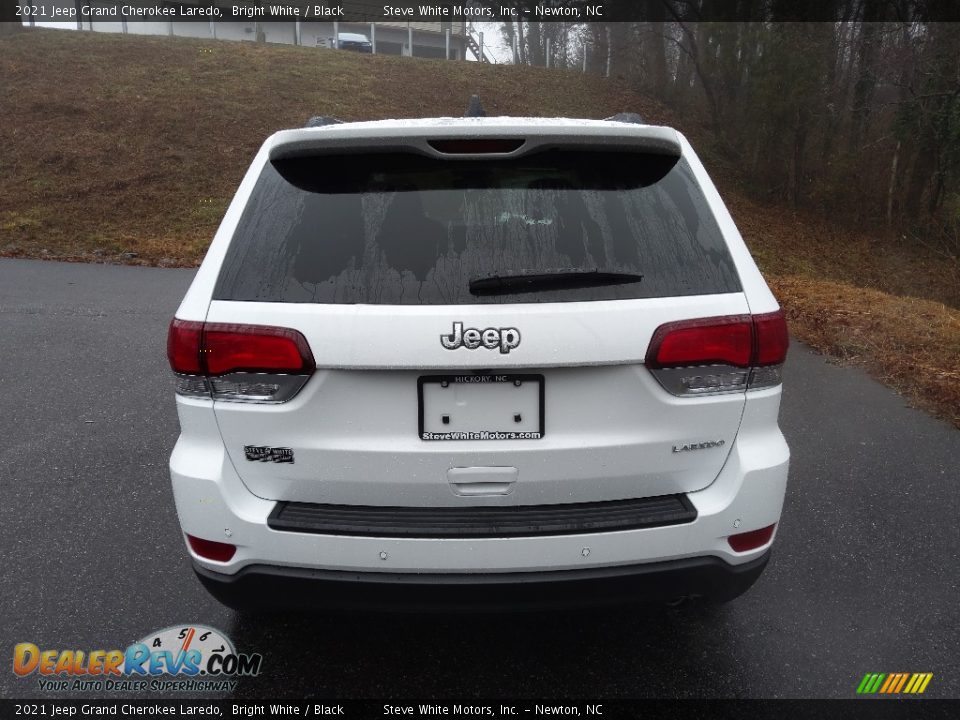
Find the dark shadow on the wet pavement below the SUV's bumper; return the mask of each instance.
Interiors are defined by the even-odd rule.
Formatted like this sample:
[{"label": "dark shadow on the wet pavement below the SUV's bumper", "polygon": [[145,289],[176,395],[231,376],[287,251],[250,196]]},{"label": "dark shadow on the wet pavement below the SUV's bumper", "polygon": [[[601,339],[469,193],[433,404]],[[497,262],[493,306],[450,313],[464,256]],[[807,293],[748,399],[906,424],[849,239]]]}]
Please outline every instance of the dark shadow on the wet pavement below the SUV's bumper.
[{"label": "dark shadow on the wet pavement below the SUV's bumper", "polygon": [[235,697],[699,696],[719,678],[748,686],[737,653],[722,647],[731,642],[722,630],[728,612],[237,615],[231,637],[264,663]]}]

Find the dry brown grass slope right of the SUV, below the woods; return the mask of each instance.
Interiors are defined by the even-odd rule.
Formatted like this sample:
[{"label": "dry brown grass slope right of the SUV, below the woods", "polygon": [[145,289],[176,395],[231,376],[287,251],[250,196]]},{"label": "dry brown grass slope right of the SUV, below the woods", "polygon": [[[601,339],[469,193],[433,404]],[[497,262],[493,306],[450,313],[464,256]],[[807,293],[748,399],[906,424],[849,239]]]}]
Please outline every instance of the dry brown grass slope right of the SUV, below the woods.
[{"label": "dry brown grass slope right of the SUV, below the woods", "polygon": [[960,267],[889,233],[814,213],[727,204],[790,333],[868,369],[960,428]]}]

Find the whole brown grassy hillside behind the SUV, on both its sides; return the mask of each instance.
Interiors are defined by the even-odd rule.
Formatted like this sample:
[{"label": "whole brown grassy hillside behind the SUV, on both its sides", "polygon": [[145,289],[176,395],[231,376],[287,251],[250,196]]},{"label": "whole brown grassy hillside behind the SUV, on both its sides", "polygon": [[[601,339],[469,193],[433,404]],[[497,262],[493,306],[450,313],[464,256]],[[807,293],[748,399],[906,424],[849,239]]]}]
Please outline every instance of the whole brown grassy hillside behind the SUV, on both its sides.
[{"label": "whole brown grassy hillside behind the SUV, on both its sides", "polygon": [[[710,138],[615,81],[576,72],[227,41],[56,30],[0,37],[0,255],[193,265],[259,144],[344,120],[638,111]],[[960,270],[933,252],[761,205],[707,158],[795,335],[860,362],[960,427]]]}]

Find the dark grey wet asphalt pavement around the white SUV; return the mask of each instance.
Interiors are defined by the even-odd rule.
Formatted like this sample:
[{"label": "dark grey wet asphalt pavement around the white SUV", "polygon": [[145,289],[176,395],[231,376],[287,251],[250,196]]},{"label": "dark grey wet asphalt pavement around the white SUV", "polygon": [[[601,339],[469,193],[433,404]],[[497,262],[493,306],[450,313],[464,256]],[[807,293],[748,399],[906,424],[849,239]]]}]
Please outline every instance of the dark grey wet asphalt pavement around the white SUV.
[{"label": "dark grey wet asphalt pavement around the white SUV", "polygon": [[713,609],[238,616],[183,548],[166,327],[191,270],[0,260],[0,697],[16,643],[123,648],[203,623],[264,656],[238,697],[960,697],[960,432],[790,350],[790,486],[757,585]]}]

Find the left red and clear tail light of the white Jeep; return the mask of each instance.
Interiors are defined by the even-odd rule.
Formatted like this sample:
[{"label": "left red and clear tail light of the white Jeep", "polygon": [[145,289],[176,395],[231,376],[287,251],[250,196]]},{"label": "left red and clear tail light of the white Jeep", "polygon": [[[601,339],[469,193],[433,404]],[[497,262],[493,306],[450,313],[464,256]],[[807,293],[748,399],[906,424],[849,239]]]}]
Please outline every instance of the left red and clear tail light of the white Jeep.
[{"label": "left red and clear tail light of the white Jeep", "polygon": [[167,357],[177,392],[242,402],[284,402],[316,368],[306,338],[290,328],[174,318]]}]

